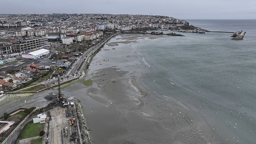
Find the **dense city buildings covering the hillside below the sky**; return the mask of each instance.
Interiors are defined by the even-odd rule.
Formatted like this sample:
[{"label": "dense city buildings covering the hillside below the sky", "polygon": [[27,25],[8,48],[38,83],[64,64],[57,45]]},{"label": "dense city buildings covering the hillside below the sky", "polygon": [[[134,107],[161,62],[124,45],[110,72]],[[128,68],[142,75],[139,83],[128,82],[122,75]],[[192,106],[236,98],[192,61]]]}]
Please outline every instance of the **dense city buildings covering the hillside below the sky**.
[{"label": "dense city buildings covering the hillside below the sky", "polygon": [[[194,28],[186,20],[173,17],[113,14],[1,15],[0,27],[2,56],[45,46],[47,41],[64,44],[93,41],[103,35],[102,31]],[[39,44],[22,45],[33,40],[39,41]]]}]

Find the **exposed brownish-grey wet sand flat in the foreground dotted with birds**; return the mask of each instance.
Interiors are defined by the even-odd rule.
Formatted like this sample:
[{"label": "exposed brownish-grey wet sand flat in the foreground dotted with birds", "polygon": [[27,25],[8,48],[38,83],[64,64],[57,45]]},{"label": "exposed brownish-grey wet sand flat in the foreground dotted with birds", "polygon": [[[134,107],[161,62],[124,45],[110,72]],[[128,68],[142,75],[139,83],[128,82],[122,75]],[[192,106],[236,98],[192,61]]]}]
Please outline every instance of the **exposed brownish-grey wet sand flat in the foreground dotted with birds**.
[{"label": "exposed brownish-grey wet sand flat in the foreground dotted with birds", "polygon": [[[94,143],[214,143],[207,122],[182,102],[145,90],[115,67],[96,70],[85,115]],[[208,133],[208,134],[207,134]]]}]

